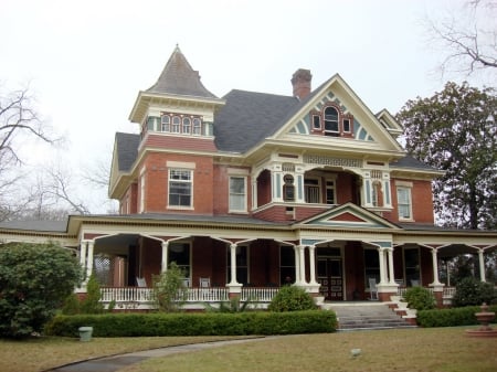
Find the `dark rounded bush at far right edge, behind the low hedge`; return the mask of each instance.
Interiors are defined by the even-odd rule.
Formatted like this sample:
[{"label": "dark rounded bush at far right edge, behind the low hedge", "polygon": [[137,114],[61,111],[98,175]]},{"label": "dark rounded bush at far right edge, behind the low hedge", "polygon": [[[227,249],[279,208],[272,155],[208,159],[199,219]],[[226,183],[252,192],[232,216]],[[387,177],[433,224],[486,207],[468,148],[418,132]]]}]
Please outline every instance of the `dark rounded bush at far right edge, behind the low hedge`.
[{"label": "dark rounded bush at far right edge, behind the low hedge", "polygon": [[477,280],[474,277],[463,278],[456,285],[456,293],[453,298],[455,307],[479,306],[483,302],[488,305],[497,302],[494,285]]}]

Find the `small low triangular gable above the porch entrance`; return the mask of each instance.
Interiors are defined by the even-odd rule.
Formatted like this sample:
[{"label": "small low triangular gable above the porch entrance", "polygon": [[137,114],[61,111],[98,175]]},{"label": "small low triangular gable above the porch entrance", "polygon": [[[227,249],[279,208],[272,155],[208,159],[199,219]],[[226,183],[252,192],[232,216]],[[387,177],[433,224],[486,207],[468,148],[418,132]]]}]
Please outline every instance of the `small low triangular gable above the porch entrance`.
[{"label": "small low triangular gable above the porch entrance", "polygon": [[299,224],[336,228],[399,228],[383,217],[353,203],[334,208],[306,221],[302,221]]}]

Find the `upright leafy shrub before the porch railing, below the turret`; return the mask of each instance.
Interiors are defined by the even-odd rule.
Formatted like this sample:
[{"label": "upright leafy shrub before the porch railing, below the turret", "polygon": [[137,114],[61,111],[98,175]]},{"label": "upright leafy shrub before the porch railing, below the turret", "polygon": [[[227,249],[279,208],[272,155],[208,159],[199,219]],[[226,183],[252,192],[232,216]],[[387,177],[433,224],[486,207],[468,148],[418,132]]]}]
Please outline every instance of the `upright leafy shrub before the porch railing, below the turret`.
[{"label": "upright leafy shrub before the porch railing, below the turret", "polygon": [[172,262],[169,268],[154,276],[154,300],[159,311],[179,311],[187,300],[184,273]]}]

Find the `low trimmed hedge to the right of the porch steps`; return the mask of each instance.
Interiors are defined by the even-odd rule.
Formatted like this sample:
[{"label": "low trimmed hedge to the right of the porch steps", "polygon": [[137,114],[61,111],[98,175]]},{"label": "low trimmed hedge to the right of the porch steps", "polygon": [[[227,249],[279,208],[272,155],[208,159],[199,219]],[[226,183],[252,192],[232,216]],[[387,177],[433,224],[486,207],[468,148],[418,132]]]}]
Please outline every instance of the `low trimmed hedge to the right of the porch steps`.
[{"label": "low trimmed hedge to the right of the porch steps", "polygon": [[[489,306],[488,311],[497,313],[497,305]],[[475,312],[482,312],[479,306],[452,309],[417,311],[416,321],[420,327],[457,327],[478,325]],[[495,321],[495,320],[494,320]]]}]

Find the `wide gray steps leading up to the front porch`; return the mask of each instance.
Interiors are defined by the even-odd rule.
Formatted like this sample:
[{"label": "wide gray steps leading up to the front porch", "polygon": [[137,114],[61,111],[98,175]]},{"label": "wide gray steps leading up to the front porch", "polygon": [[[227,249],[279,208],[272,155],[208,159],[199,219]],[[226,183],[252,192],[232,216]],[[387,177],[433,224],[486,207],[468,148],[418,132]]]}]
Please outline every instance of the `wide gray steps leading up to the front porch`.
[{"label": "wide gray steps leading up to the front porch", "polygon": [[334,302],[324,304],[322,308],[337,313],[339,331],[415,328],[385,302]]}]

